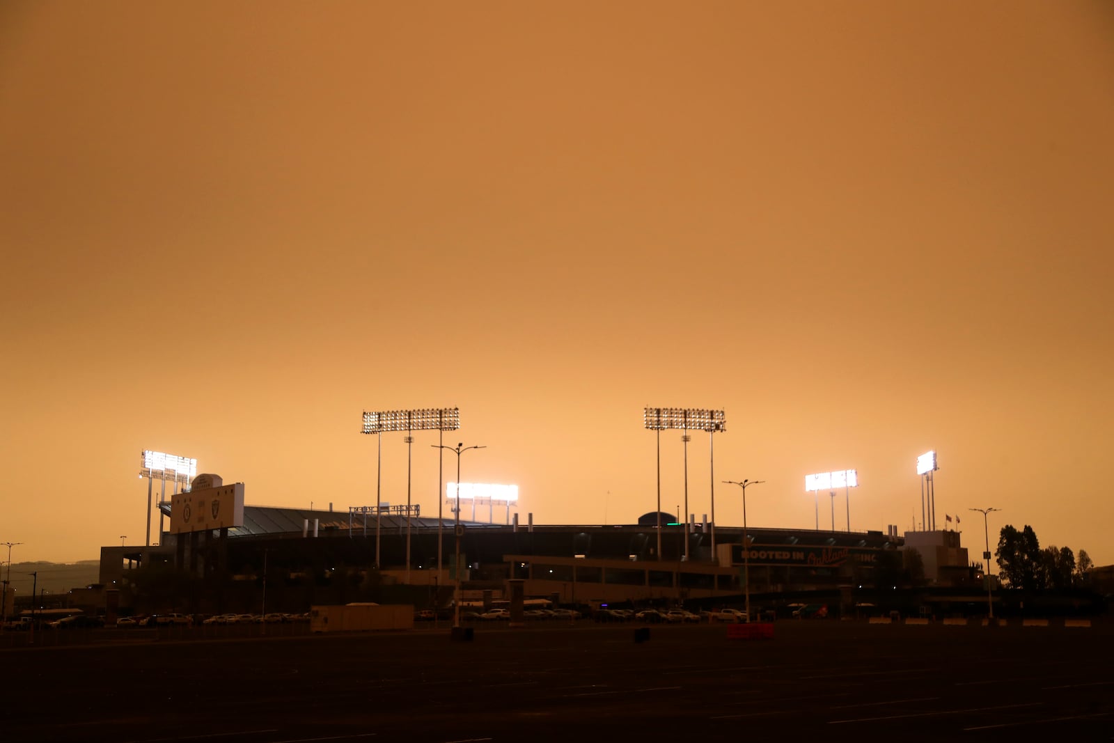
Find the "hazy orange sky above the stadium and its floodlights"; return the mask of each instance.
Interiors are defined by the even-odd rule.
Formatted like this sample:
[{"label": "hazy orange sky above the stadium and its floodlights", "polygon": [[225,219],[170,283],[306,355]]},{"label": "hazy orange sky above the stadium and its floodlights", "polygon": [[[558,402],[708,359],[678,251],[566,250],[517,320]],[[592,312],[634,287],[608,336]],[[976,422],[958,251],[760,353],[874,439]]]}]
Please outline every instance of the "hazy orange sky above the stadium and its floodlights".
[{"label": "hazy orange sky above the stadium and its floodlights", "polygon": [[371,505],[362,411],[436,407],[524,522],[629,524],[654,405],[726,411],[720,524],[858,468],[851,527],[910,529],[936,449],[973,559],[993,506],[1114,563],[1112,133],[1106,2],[9,0],[0,541],[143,544],[143,449]]}]

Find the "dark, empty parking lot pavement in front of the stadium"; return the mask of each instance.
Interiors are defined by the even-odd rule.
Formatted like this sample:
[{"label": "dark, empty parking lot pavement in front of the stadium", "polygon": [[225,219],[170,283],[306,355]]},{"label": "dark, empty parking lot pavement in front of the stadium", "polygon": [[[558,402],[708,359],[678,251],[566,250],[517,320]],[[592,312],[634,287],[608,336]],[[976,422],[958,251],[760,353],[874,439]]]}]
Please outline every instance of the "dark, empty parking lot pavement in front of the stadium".
[{"label": "dark, empty parking lot pavement in front of the stadium", "polygon": [[478,627],[0,652],[2,741],[1111,741],[1114,630]]}]

